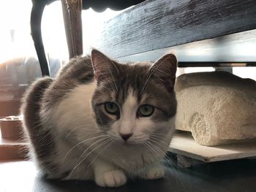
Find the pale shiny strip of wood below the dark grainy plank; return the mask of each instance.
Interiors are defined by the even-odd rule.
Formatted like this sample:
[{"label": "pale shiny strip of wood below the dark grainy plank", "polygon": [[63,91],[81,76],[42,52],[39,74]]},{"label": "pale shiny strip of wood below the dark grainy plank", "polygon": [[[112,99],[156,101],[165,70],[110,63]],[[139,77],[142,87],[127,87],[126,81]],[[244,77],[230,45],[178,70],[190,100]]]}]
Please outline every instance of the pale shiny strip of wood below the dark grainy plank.
[{"label": "pale shiny strip of wood below the dark grainy plank", "polygon": [[180,66],[256,66],[256,30],[230,34],[185,45],[151,50],[117,58],[118,61],[156,61],[174,53]]}]

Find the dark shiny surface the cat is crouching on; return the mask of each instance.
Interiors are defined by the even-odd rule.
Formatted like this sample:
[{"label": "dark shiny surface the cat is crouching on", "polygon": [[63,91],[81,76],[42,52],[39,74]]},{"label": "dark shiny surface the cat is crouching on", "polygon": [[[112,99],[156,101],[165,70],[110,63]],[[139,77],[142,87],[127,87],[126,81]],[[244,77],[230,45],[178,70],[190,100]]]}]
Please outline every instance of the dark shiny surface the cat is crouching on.
[{"label": "dark shiny surface the cat is crouching on", "polygon": [[44,180],[31,161],[0,163],[0,191],[255,191],[256,159],[241,159],[192,166],[176,166],[175,156],[160,180],[129,181],[121,188],[100,188],[91,181]]}]

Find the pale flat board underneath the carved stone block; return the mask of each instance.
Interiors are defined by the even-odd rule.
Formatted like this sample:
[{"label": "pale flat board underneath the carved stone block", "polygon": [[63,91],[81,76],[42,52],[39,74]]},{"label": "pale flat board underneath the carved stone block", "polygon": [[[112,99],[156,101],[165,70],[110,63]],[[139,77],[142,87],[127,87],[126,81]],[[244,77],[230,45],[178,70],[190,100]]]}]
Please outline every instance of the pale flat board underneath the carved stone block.
[{"label": "pale flat board underneath the carved stone block", "polygon": [[214,162],[253,158],[256,157],[256,141],[206,147],[197,144],[189,132],[178,131],[170,143],[169,151],[182,155],[182,161],[190,159],[201,162]]}]

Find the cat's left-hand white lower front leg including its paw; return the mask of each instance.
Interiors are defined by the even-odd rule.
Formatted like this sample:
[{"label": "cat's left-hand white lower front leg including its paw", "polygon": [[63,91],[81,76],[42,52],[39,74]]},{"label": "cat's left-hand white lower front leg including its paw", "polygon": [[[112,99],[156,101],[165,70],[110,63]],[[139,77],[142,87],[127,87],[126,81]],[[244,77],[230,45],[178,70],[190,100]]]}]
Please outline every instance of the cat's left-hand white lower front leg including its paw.
[{"label": "cat's left-hand white lower front leg including its paw", "polygon": [[127,183],[127,177],[121,169],[106,162],[94,162],[94,180],[101,187],[119,187]]}]

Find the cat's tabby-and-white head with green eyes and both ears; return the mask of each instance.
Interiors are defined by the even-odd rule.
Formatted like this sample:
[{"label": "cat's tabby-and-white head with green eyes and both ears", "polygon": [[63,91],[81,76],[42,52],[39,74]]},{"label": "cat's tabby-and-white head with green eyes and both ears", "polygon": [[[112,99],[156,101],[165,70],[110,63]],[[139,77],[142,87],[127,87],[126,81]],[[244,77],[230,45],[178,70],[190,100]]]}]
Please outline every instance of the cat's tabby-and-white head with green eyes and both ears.
[{"label": "cat's tabby-and-white head with green eyes and both ears", "polygon": [[156,64],[118,64],[97,50],[91,54],[97,88],[92,98],[99,129],[114,142],[143,144],[173,129],[176,114],[173,85],[176,58]]}]

